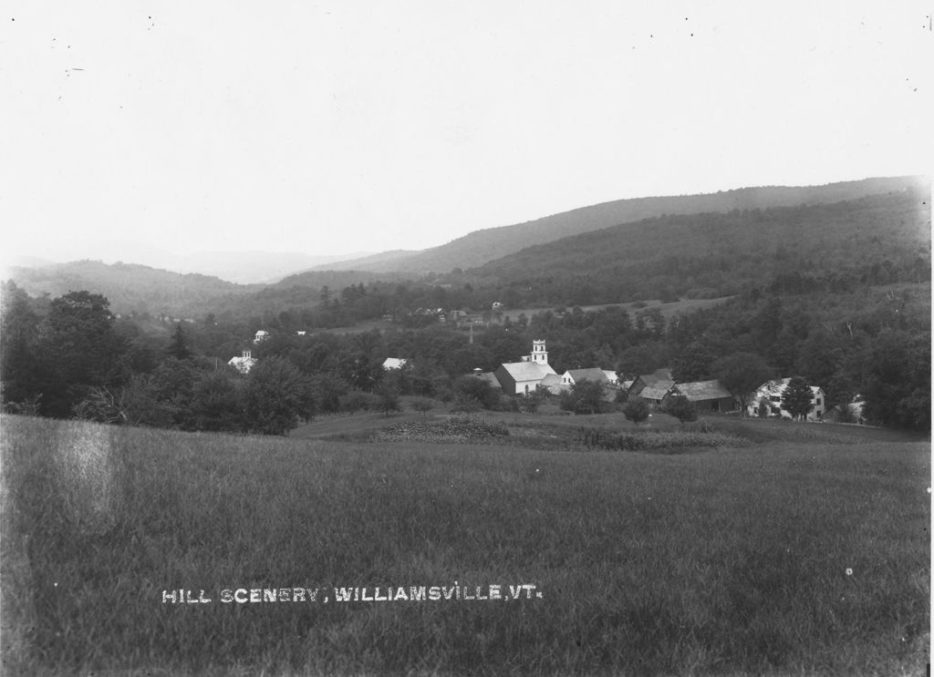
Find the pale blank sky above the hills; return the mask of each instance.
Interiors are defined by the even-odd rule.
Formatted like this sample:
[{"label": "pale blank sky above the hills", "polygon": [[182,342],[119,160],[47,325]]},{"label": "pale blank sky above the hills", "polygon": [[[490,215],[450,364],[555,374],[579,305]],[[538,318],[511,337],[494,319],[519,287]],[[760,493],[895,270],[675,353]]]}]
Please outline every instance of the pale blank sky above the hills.
[{"label": "pale blank sky above the hills", "polygon": [[[763,7],[763,8],[757,8]],[[930,2],[7,2],[7,252],[421,249],[930,173]]]}]

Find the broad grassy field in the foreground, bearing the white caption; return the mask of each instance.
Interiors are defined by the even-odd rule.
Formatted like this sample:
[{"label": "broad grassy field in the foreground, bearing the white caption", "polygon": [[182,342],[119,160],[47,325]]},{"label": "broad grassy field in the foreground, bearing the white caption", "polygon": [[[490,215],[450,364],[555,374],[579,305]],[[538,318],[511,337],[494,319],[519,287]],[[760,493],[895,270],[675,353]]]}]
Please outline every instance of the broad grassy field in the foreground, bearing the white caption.
[{"label": "broad grassy field in the foreground, bearing the white caption", "polygon": [[756,425],[669,454],[4,416],[4,673],[923,674],[929,443]]}]

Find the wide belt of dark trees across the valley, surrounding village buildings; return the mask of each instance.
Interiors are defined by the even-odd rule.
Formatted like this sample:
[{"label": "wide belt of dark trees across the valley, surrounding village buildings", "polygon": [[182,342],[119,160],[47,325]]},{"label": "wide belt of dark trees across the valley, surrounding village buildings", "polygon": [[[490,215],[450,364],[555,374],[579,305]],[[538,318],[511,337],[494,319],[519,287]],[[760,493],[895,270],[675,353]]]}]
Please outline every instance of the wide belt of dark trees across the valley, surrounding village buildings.
[{"label": "wide belt of dark trees across the valley, surrounding village buildings", "polygon": [[[338,302],[354,306],[372,296],[369,287],[352,285],[319,298],[317,307],[327,312]],[[298,336],[262,325],[260,318],[244,322],[213,314],[165,325],[141,315],[118,319],[98,294],[34,298],[12,283],[3,299],[5,407],[46,416],[281,433],[317,413],[389,411],[400,395],[497,408],[500,394],[465,375],[517,361],[532,339],[544,338],[559,373],[601,366],[631,379],[670,367],[676,381],[719,379],[741,399],[765,380],[800,375],[825,390],[828,406],[845,405],[858,394],[869,421],[930,427],[927,284],[807,296],[754,287],[718,306],[673,315],[658,307],[541,311],[477,331],[473,341],[450,325],[344,336]],[[425,300],[408,299],[419,305]],[[279,319],[278,327],[291,326],[290,317]],[[248,376],[227,367],[261,327],[272,333],[250,345],[258,365]],[[408,364],[386,371],[388,356]],[[597,390],[581,384],[563,396],[561,406],[599,411]],[[540,403],[532,397],[521,406],[534,410]]]}]

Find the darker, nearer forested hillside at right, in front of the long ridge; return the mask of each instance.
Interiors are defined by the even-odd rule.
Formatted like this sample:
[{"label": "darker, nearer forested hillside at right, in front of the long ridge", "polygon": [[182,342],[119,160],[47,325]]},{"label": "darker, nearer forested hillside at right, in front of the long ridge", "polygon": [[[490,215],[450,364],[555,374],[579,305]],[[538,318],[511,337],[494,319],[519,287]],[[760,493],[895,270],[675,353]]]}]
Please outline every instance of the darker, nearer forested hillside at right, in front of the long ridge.
[{"label": "darker, nearer forested hillside at right, in front of the long ridge", "polygon": [[516,290],[510,300],[522,305],[921,282],[930,277],[929,196],[929,186],[911,187],[833,204],[649,218],[529,247],[468,276]]}]

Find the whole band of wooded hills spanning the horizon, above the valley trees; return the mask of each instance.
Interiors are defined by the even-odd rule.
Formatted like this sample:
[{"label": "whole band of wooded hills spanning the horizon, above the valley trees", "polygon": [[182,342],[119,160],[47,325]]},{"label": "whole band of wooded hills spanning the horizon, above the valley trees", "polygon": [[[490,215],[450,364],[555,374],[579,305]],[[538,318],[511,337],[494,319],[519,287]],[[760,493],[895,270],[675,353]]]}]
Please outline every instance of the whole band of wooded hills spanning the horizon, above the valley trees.
[{"label": "whole band of wooded hills spanning the horizon, above the valley trees", "polygon": [[[620,214],[662,207],[668,210],[664,214],[618,220]],[[608,221],[611,226],[596,228]],[[869,275],[877,281],[886,276],[922,280],[927,270],[929,279],[929,228],[930,182],[906,176],[826,187],[617,200],[479,230],[422,252],[396,250],[340,268],[307,270],[274,283],[238,284],[198,273],[90,260],[53,265],[36,260],[35,266],[11,267],[4,274],[31,296],[88,289],[109,298],[115,312],[183,317],[225,309],[262,315],[270,304],[316,304],[324,286],[339,292],[351,284],[403,283],[415,281],[425,270],[450,278],[448,283],[496,289],[497,296],[508,291],[502,298],[507,305],[532,307],[654,298],[663,292],[729,296],[748,283],[770,283],[789,269],[812,277]],[[460,275],[447,275],[457,268]],[[518,302],[522,305],[516,306]]]}]

